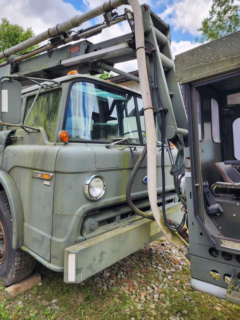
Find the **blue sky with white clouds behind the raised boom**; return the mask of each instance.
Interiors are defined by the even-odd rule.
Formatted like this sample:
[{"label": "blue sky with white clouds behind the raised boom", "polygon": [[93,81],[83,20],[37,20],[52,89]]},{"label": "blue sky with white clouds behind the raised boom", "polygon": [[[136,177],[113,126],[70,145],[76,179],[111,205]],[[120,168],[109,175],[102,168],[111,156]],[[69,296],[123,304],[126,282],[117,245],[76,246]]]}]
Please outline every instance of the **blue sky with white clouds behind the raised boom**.
[{"label": "blue sky with white clouds behind the raised boom", "polygon": [[[106,1],[106,0],[105,0]],[[212,0],[145,0],[151,9],[171,26],[172,52],[176,55],[196,46],[194,42],[201,27],[201,21],[208,16]],[[7,18],[11,23],[17,23],[23,28],[32,27],[35,34],[55,26],[57,23],[68,20],[76,14],[89,11],[104,3],[104,0],[0,0],[0,18]],[[118,8],[119,14],[124,7]],[[130,7],[129,7],[130,8]],[[85,22],[79,28],[86,28],[103,21],[100,16],[90,22]],[[130,28],[126,21],[107,28],[99,36],[89,39],[93,43],[104,41],[124,33]],[[124,69],[133,71],[136,64],[124,64]]]}]

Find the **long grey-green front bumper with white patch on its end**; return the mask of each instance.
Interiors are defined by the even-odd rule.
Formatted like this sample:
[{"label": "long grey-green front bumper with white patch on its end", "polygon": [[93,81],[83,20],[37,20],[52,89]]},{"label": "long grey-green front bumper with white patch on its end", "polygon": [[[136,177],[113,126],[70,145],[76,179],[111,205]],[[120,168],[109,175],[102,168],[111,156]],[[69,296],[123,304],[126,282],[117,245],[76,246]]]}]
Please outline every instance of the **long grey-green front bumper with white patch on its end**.
[{"label": "long grey-green front bumper with white patch on its end", "polygon": [[[180,206],[169,211],[179,214]],[[146,218],[75,244],[64,252],[64,282],[79,283],[163,236],[156,221]]]}]

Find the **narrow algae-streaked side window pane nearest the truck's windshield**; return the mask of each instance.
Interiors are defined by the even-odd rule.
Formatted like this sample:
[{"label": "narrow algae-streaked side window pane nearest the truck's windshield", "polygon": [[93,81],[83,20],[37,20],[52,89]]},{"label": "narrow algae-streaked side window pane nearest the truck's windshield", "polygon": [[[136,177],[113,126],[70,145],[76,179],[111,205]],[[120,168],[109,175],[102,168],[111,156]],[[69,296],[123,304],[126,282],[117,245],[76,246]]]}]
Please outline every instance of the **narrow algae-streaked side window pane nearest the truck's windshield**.
[{"label": "narrow algae-streaked side window pane nearest the truck's windshield", "polygon": [[50,141],[54,141],[55,139],[55,131],[58,121],[58,111],[60,106],[61,93],[61,91],[51,92],[49,98],[49,106],[47,110],[45,129]]}]

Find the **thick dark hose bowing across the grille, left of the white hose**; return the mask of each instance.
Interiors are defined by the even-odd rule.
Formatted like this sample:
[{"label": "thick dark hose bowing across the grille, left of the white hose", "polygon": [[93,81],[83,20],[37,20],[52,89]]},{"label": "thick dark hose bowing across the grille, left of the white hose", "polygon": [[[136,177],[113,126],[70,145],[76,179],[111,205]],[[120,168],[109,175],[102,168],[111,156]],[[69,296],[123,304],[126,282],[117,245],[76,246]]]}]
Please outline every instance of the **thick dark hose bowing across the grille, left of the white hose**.
[{"label": "thick dark hose bowing across the grille, left of the white hose", "polygon": [[138,169],[140,168],[140,165],[142,164],[146,154],[147,154],[147,145],[145,145],[145,147],[143,148],[142,153],[140,154],[140,157],[138,158],[138,161],[136,162],[136,164],[131,172],[131,175],[129,177],[129,180],[127,183],[127,188],[126,188],[126,199],[127,199],[128,205],[130,206],[130,208],[132,209],[133,212],[137,213],[138,215],[140,215],[143,218],[155,220],[152,213],[143,212],[143,211],[139,210],[133,204],[132,198],[131,198],[131,189],[132,189],[132,184],[133,184],[134,178],[136,177]]}]

